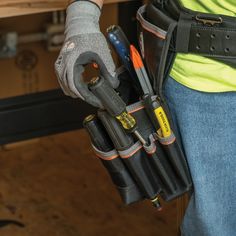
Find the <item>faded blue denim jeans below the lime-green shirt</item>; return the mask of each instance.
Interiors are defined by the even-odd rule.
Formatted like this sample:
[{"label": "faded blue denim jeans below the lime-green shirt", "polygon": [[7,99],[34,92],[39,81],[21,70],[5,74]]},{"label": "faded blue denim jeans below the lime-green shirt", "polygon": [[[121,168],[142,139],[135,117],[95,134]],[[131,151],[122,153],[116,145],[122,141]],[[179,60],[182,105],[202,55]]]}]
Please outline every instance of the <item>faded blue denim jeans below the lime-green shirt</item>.
[{"label": "faded blue denim jeans below the lime-green shirt", "polygon": [[194,184],[182,236],[234,236],[236,92],[199,92],[168,78],[164,93]]}]

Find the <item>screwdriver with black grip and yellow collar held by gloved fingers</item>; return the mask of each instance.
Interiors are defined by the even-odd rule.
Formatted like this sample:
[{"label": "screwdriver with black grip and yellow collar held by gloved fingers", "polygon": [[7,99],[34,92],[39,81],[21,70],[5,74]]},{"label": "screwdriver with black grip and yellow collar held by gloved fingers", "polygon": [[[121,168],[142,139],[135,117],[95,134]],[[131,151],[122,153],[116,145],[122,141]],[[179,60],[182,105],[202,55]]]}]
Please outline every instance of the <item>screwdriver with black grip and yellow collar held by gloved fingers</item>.
[{"label": "screwdriver with black grip and yellow collar held by gloved fingers", "polygon": [[124,101],[103,77],[94,77],[89,83],[89,88],[100,99],[108,113],[115,117],[127,132],[133,133],[143,145],[147,145],[137,130],[135,118],[126,111]]}]

